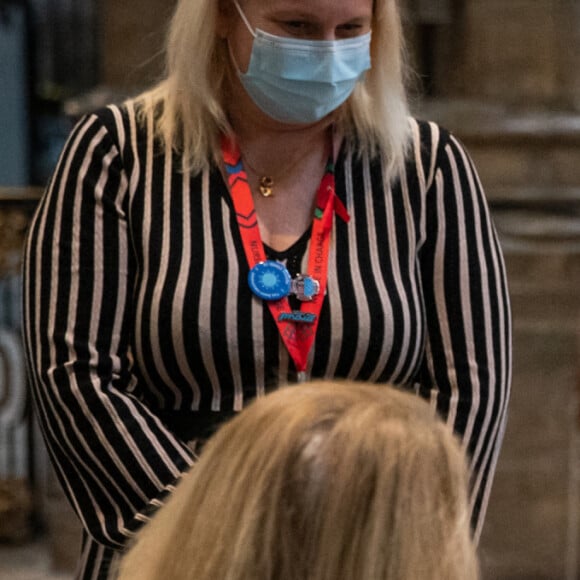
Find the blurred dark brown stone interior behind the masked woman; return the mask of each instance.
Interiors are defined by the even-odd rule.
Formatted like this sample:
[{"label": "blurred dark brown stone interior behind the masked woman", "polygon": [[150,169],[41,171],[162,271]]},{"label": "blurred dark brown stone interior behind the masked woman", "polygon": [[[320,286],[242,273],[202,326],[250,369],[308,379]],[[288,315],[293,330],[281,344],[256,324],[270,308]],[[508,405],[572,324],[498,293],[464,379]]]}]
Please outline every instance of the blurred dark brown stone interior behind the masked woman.
[{"label": "blurred dark brown stone interior behind the masked woman", "polygon": [[[483,576],[578,580],[580,1],[401,3],[413,108],[467,145],[510,280],[512,402],[481,542]],[[0,0],[0,123],[14,132],[0,131],[0,579],[72,577],[79,533],[22,384],[26,222],[74,117],[159,77],[173,5]],[[4,151],[15,143],[28,153],[7,168]]]}]

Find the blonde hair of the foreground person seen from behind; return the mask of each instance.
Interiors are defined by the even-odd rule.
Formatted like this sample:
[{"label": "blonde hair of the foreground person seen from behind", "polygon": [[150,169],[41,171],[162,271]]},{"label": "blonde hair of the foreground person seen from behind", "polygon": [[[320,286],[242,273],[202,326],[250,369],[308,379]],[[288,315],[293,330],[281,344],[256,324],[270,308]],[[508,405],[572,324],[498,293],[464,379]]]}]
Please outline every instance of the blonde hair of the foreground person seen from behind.
[{"label": "blonde hair of the foreground person seen from behind", "polygon": [[474,580],[466,467],[416,396],[318,382],[222,427],[119,580]]}]

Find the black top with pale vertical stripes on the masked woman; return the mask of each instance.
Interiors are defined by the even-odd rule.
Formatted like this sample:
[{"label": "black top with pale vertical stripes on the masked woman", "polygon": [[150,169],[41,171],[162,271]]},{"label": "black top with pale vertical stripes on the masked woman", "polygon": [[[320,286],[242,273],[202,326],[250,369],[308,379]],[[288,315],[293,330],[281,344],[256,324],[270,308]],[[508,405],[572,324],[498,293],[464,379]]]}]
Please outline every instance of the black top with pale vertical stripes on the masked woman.
[{"label": "black top with pale vertical stripes on the masked woman", "polygon": [[[505,271],[466,152],[435,124],[411,123],[392,186],[380,162],[340,152],[351,221],[335,219],[309,376],[389,381],[429,399],[470,453],[479,535],[510,384]],[[194,424],[295,380],[248,288],[220,171],[180,168],[133,104],[87,116],[26,248],[36,407],[65,490],[105,548],[122,547],[192,463],[172,413]],[[304,270],[308,244],[274,257]]]}]

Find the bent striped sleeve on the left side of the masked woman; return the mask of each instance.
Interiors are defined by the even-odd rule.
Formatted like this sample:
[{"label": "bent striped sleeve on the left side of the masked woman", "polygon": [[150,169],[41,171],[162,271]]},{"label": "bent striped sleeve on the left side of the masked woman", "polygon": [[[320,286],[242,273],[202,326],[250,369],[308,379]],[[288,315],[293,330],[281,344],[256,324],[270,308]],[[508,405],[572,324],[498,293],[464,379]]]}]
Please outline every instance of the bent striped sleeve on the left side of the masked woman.
[{"label": "bent striped sleeve on the left side of the masked woman", "polygon": [[84,527],[112,548],[192,463],[134,394],[130,191],[118,143],[86,117],[31,224],[23,272],[27,363],[49,453]]}]

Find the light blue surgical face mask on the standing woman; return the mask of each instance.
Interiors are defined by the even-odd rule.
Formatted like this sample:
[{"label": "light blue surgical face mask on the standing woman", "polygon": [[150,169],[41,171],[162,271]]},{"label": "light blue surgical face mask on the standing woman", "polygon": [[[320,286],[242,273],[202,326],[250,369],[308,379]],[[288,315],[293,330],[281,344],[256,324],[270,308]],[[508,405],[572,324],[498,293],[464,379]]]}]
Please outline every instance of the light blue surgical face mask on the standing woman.
[{"label": "light blue surgical face mask on the standing woman", "polygon": [[254,103],[285,123],[314,123],[344,103],[371,67],[371,33],[346,40],[303,40],[252,29],[237,0],[238,12],[254,36],[246,73],[236,69]]}]

